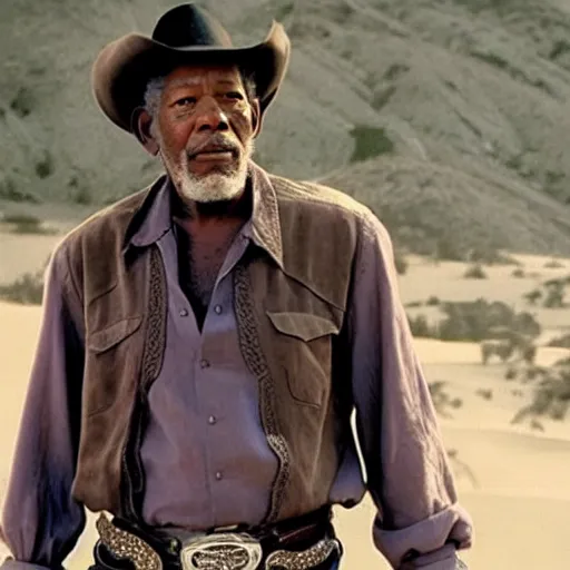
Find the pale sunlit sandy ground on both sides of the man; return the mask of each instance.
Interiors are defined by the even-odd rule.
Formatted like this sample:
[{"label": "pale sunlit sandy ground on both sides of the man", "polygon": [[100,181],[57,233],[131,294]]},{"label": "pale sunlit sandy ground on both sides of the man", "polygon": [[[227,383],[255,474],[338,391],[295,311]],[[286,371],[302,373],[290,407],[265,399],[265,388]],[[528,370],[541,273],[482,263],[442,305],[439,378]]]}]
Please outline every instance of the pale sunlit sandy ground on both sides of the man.
[{"label": "pale sunlit sandy ground on both sides of the man", "polygon": [[[55,236],[0,235],[0,283],[36,271],[55,243]],[[434,265],[413,258],[409,272],[401,277],[402,298],[407,303],[430,295],[456,301],[485,297],[519,304],[520,296],[537,283],[570,273],[570,261],[562,261],[564,266],[557,269],[544,268],[544,258],[521,261],[529,273],[522,279],[512,278],[512,267],[491,267],[489,279],[466,281],[462,278],[462,264]],[[537,309],[537,316],[552,331],[570,327],[568,311]],[[40,317],[39,307],[0,303],[0,502]],[[570,560],[568,421],[544,421],[543,431],[531,430],[527,424],[511,425],[513,414],[529,401],[531,386],[505,381],[505,365],[482,366],[475,344],[417,338],[416,347],[429,381],[445,382],[450,396],[462,401],[462,406],[451,412],[452,417],[442,417],[441,425],[446,446],[453,450],[461,502],[475,522],[475,546],[464,553],[464,560],[476,570],[564,568]],[[543,347],[538,361],[549,364],[567,354]],[[482,396],[481,391],[488,390],[490,399]],[[373,517],[368,500],[350,511],[337,510],[337,529],[346,547],[343,568],[389,568],[372,546]],[[88,566],[94,537],[90,519],[69,558],[70,569]]]}]

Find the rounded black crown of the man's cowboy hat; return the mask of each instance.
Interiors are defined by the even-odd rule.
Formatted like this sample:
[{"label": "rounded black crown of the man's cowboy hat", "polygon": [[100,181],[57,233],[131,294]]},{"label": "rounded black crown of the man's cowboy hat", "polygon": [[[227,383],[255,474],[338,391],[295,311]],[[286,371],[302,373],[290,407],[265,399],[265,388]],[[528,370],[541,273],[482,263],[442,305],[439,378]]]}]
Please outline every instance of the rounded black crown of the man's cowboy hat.
[{"label": "rounded black crown of the man's cowboy hat", "polygon": [[163,14],[155,26],[153,39],[173,48],[232,47],[232,39],[222,23],[193,3],[177,6]]}]

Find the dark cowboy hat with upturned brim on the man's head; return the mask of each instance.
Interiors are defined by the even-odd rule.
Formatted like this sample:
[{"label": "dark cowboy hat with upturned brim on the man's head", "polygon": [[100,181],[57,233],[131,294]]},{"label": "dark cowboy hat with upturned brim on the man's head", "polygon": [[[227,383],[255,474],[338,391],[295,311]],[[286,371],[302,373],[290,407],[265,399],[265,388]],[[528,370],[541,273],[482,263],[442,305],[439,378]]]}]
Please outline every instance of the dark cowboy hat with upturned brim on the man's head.
[{"label": "dark cowboy hat with upturned brim on the man's head", "polygon": [[164,77],[177,66],[237,65],[254,79],[263,115],[283,81],[289,51],[281,23],[273,22],[263,42],[235,48],[222,23],[187,3],[163,14],[150,38],[129,33],[108,43],[94,63],[91,82],[105,115],[132,132],[132,112],[144,105],[150,79]]}]

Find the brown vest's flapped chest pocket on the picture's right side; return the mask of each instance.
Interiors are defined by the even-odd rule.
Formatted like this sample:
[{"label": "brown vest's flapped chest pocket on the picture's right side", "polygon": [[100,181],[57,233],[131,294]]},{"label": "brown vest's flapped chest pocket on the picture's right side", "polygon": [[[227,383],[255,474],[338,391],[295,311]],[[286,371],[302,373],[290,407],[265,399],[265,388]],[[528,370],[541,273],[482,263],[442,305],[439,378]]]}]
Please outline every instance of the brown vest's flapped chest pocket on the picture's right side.
[{"label": "brown vest's flapped chest pocket on the picture's right side", "polygon": [[321,407],[330,393],[332,335],[338,325],[311,313],[267,311],[267,316],[277,331],[272,353],[286,371],[291,395]]}]

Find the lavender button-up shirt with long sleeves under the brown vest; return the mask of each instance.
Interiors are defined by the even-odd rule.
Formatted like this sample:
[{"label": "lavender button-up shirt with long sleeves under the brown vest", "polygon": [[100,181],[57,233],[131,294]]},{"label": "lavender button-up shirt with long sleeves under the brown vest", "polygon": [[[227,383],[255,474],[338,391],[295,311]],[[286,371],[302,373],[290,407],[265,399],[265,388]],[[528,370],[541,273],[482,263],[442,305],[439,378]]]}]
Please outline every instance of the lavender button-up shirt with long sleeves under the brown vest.
[{"label": "lavender button-up shirt with long sleeves under the brown vest", "polygon": [[[277,461],[263,432],[256,380],[239,351],[232,284],[232,271],[248,242],[264,247],[253,230],[257,200],[263,193],[254,193],[252,219],[227,254],[202,333],[178,284],[167,185],[132,237],[139,246],[157,243],[168,287],[166,353],[150,389],[150,424],[141,448],[147,481],[142,514],[154,525],[199,530],[257,523],[267,510]],[[346,318],[367,483],[352,445],[331,503],[354,504],[370,491],[379,508],[374,542],[393,567],[414,549],[424,553],[416,567],[453,570],[455,549],[446,542],[469,547],[471,519],[456,502],[399,298],[390,237],[372,214],[364,227]],[[66,353],[71,346],[82,350],[83,342],[83,331],[72,326],[70,315],[79,317],[82,311],[77,297],[62,305],[63,287],[71,291],[67,262],[57,250],[47,275],[40,340],[2,520],[16,560],[2,568],[58,567],[85,527],[83,507],[70,497],[75,419],[72,405],[65,405],[73,372]]]}]

